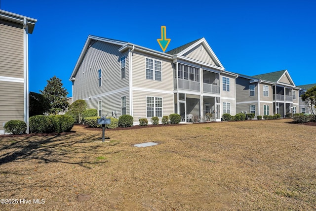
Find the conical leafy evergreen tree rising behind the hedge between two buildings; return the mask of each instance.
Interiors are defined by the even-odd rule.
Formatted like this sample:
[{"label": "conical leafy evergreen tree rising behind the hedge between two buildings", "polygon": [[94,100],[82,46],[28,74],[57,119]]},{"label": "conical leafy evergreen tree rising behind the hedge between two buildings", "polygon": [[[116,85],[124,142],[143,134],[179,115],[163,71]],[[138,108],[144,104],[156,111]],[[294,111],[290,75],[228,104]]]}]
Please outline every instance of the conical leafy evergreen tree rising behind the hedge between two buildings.
[{"label": "conical leafy evergreen tree rising behind the hedge between two buildings", "polygon": [[63,87],[61,79],[56,76],[47,81],[47,85],[44,87],[44,90],[40,90],[40,93],[50,104],[51,113],[58,114],[58,112],[64,111],[69,106],[67,100],[68,91]]}]

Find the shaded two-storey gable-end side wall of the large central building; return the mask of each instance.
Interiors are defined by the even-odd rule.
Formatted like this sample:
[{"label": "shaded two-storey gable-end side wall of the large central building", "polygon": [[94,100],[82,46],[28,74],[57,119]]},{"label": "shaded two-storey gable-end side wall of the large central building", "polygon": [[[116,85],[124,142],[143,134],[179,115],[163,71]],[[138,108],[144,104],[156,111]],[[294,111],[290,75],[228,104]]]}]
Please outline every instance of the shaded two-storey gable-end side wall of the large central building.
[{"label": "shaded two-storey gable-end side wall of the large central building", "polygon": [[[93,43],[80,64],[73,83],[74,101],[84,99],[88,108],[98,109],[102,101],[102,114],[120,115],[120,97],[126,95],[126,114],[129,114],[128,52],[118,52],[120,45],[106,42]],[[125,56],[126,77],[121,79],[120,58]],[[101,69],[101,87],[98,86],[98,70]]]}]

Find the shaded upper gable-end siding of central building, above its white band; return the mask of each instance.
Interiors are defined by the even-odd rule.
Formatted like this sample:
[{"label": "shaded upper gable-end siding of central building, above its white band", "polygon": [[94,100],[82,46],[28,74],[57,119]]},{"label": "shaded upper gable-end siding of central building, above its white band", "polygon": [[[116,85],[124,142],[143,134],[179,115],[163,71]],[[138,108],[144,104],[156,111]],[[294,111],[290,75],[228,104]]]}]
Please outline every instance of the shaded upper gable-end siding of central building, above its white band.
[{"label": "shaded upper gable-end siding of central building, above its white band", "polygon": [[[128,89],[128,52],[118,52],[120,45],[97,41],[93,43],[79,66],[73,86],[74,101],[91,100],[106,93]],[[120,58],[126,58],[126,78],[120,78]],[[90,69],[91,68],[91,69]],[[98,70],[101,69],[101,87],[98,86]]]}]

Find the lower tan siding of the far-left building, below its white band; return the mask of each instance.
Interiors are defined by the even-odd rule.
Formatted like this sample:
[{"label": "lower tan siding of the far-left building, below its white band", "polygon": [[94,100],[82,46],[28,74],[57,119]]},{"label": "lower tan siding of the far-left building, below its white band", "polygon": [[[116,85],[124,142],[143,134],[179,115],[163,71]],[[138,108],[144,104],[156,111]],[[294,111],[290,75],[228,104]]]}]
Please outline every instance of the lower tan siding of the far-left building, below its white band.
[{"label": "lower tan siding of the far-left building, below its white band", "polygon": [[24,84],[0,81],[0,130],[10,120],[24,121]]}]

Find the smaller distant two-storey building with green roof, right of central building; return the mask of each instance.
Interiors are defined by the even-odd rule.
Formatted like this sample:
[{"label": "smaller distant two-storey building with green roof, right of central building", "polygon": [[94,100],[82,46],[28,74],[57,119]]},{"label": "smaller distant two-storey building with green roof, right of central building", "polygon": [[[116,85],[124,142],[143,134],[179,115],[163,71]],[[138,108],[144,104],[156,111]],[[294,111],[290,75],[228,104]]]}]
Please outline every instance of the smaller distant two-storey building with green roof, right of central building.
[{"label": "smaller distant two-storey building with green roof, right of central building", "polygon": [[287,70],[256,75],[238,75],[236,111],[258,115],[299,113],[299,90]]}]

